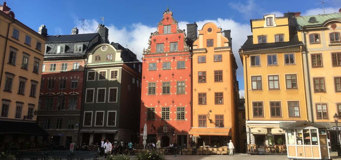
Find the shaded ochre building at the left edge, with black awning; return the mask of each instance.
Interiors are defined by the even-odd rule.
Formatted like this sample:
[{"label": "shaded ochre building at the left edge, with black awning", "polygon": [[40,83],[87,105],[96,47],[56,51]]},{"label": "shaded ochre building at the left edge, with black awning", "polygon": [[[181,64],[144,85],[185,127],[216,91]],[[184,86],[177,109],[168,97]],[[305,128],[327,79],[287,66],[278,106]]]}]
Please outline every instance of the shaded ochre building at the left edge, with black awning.
[{"label": "shaded ochre building at the left edge, with black awning", "polygon": [[35,116],[45,41],[15,19],[6,2],[0,5],[0,144],[31,142],[36,135],[46,134]]}]

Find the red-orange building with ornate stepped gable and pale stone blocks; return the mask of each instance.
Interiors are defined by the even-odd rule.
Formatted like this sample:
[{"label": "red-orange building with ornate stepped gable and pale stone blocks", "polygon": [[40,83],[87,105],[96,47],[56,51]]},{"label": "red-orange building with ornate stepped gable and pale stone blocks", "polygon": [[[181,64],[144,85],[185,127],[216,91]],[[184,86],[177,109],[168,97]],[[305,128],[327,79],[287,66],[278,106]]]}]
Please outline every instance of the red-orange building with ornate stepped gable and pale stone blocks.
[{"label": "red-orange building with ornate stepped gable and pale stone blocks", "polygon": [[192,59],[184,31],[167,8],[143,51],[140,133],[147,124],[147,143],[189,144]]}]

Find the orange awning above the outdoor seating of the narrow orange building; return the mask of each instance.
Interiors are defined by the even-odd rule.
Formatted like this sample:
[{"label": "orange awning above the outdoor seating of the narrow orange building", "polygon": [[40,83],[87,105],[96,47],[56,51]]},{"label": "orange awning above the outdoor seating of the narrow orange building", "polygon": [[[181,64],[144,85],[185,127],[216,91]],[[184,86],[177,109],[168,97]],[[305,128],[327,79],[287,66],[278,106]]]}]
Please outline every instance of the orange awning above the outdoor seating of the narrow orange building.
[{"label": "orange awning above the outdoor seating of the narrow orange building", "polygon": [[188,134],[197,135],[232,135],[231,128],[191,128]]}]

